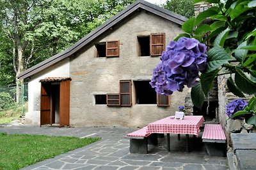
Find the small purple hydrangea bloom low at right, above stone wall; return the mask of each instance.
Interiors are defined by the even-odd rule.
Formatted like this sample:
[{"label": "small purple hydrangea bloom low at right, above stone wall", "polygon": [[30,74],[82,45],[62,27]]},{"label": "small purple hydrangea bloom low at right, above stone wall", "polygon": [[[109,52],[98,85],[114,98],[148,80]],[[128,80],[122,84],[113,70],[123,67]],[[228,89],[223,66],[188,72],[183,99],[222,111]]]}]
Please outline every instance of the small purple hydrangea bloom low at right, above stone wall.
[{"label": "small purple hydrangea bloom low at right, above stone wall", "polygon": [[243,110],[247,106],[247,102],[242,99],[234,99],[226,106],[226,114],[232,117],[237,111]]}]

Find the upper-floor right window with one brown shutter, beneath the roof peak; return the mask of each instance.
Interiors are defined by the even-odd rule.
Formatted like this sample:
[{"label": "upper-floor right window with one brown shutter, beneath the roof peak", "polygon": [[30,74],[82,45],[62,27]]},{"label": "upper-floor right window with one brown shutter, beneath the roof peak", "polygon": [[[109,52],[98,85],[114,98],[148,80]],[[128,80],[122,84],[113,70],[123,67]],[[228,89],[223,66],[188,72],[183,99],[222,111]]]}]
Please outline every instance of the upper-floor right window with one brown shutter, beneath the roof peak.
[{"label": "upper-floor right window with one brown shutter, beneath the roof peak", "polygon": [[139,56],[160,56],[165,50],[165,34],[150,34],[150,36],[138,36]]}]

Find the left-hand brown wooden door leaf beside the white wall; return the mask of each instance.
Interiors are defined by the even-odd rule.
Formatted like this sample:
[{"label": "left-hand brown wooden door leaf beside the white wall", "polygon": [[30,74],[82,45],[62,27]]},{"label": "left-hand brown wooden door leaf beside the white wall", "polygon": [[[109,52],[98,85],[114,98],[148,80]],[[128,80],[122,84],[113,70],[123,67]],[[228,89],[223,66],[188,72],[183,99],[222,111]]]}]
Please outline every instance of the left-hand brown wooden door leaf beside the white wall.
[{"label": "left-hand brown wooden door leaf beside the white wall", "polygon": [[51,84],[41,83],[40,126],[51,124]]}]

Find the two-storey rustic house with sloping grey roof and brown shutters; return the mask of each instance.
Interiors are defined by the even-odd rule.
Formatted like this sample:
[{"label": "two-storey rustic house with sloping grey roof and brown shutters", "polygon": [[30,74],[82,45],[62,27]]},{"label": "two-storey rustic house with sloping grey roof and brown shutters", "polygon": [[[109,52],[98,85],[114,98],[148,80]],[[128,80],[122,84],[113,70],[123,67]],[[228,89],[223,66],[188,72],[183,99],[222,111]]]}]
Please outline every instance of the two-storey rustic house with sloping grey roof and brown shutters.
[{"label": "two-storey rustic house with sloping grey roof and brown shutters", "polygon": [[20,73],[29,124],[142,127],[174,115],[189,89],[159,96],[149,85],[185,17],[136,1],[67,50]]}]

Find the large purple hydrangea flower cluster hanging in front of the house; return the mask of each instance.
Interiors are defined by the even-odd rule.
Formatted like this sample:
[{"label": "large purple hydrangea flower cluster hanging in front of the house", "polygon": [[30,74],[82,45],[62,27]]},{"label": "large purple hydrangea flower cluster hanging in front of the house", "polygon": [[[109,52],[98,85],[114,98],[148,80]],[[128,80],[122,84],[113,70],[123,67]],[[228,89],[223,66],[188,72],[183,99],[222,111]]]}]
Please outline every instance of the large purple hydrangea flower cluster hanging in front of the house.
[{"label": "large purple hydrangea flower cluster hanging in front of the house", "polygon": [[161,55],[161,62],[153,71],[150,82],[158,94],[170,95],[182,91],[186,86],[196,84],[199,71],[206,67],[206,45],[195,38],[181,37],[177,42],[170,41]]}]

